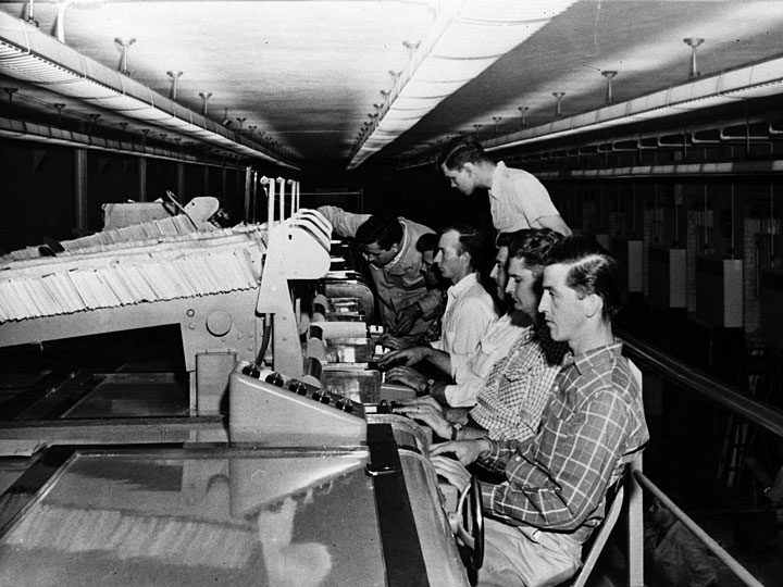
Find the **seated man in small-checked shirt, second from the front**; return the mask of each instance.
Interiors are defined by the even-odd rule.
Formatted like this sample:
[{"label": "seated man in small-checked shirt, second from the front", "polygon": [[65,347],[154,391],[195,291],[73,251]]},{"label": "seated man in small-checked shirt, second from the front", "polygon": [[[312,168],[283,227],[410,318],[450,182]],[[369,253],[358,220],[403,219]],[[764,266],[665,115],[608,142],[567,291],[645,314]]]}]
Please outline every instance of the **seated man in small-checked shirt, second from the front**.
[{"label": "seated man in small-checked shirt, second from the front", "polygon": [[520,234],[509,249],[506,291],[517,310],[530,316],[532,325],[523,329],[508,355],[495,363],[478,391],[475,408],[470,412],[451,410],[447,417],[435,400],[418,398],[397,409],[427,424],[440,438],[526,440],[535,436],[549,400],[568,346],[551,340],[538,302],[549,250],[562,237],[549,229]]}]

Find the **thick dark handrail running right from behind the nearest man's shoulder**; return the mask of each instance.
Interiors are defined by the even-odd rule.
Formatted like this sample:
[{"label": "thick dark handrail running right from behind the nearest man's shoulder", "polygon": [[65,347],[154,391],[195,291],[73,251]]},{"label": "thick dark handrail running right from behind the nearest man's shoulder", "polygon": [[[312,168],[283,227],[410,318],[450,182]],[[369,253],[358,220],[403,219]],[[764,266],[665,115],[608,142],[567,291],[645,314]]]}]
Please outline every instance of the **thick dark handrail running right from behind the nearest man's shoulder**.
[{"label": "thick dark handrail running right from behind the nearest man's shoulder", "polygon": [[682,385],[688,391],[705,397],[742,415],[753,424],[783,438],[783,411],[743,395],[709,375],[686,365],[626,333],[618,333],[625,351],[634,361],[644,363],[662,377]]}]

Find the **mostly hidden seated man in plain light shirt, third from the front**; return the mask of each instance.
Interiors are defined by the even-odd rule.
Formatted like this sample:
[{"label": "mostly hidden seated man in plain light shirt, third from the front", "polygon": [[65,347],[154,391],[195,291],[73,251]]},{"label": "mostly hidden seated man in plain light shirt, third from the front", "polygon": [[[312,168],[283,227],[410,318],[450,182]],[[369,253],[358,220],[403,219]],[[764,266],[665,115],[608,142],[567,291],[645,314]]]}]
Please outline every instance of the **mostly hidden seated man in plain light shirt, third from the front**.
[{"label": "mostly hidden seated man in plain light shirt, third from the front", "polygon": [[[493,366],[497,361],[508,355],[511,346],[522,334],[522,327],[530,324],[530,319],[523,312],[515,310],[513,300],[506,295],[509,243],[523,233],[525,232],[520,230],[518,233],[504,233],[498,236],[495,265],[489,276],[495,280],[497,297],[501,303],[505,303],[506,312],[487,329],[478,342],[478,348],[470,358],[464,362],[460,362],[456,358],[455,364],[452,364],[451,357],[448,353],[428,346],[422,346],[389,352],[378,361],[382,367],[400,365],[393,367],[389,373],[391,376],[406,377],[406,383],[417,389],[420,395],[424,395],[425,387],[427,387],[426,377],[413,370],[401,369],[402,366],[410,366],[427,360],[430,363],[437,365],[444,373],[453,373],[453,383],[432,382],[428,387],[427,397],[444,404],[447,417],[449,408],[472,408],[475,405],[476,396],[484,387]],[[411,400],[411,402],[425,401],[425,399]],[[460,409],[453,420],[448,419],[449,421],[459,422],[463,417],[464,411]]]}]

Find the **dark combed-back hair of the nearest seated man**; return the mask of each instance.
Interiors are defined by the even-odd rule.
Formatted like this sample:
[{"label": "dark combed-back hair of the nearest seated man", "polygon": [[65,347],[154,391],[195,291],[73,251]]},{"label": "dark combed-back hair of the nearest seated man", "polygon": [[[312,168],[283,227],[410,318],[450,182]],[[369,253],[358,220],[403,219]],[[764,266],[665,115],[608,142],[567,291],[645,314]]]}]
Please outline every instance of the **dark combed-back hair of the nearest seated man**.
[{"label": "dark combed-back hair of the nearest seated man", "polygon": [[605,319],[613,319],[625,304],[627,292],[620,263],[596,240],[585,236],[563,238],[549,251],[548,264],[556,263],[571,265],[566,284],[580,297],[595,294],[604,300]]}]

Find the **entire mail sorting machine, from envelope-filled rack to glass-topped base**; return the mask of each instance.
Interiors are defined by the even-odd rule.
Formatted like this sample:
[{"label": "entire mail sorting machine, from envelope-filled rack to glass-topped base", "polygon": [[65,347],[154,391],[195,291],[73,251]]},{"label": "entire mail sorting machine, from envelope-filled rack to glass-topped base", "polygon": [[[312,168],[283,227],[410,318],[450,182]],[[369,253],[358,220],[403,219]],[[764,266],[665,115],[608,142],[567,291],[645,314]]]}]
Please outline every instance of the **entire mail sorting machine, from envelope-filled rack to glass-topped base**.
[{"label": "entire mail sorting machine, from envelope-filled rack to glass-topped base", "polygon": [[[46,463],[49,474],[30,472],[23,485],[28,492],[30,477],[46,479],[44,485],[24,507],[0,515],[0,584],[84,585],[111,576],[119,585],[169,584],[173,577],[195,585],[468,585],[452,532],[463,542],[481,544],[481,524],[471,517],[478,515],[477,496],[461,500],[473,504],[470,512],[463,508],[448,516],[422,429],[389,413],[387,402],[332,394],[315,376],[321,361],[311,349],[325,353],[323,333],[334,344],[351,322],[348,338],[366,336],[365,322],[339,320],[362,312],[353,312],[358,307],[347,296],[320,298],[328,309],[323,320],[313,316],[322,337],[310,337],[303,349],[298,344],[303,313],[291,303],[287,280],[325,273],[327,228],[323,218],[300,211],[265,233],[240,227],[179,235],[157,239],[153,250],[124,245],[26,260],[8,270],[4,287],[18,297],[3,309],[5,344],[138,327],[184,314],[177,320],[186,355],[187,337],[221,340],[216,347],[191,344],[196,361],[189,372],[200,378],[206,369],[198,357],[204,349],[225,352],[222,345],[249,307],[254,312],[248,338],[254,345],[228,352],[236,365],[231,446],[59,447],[59,455],[70,457],[57,473],[51,474],[51,459],[36,463]],[[290,254],[277,258],[274,250]],[[220,275],[210,275],[214,265]],[[188,273],[196,276],[187,280]],[[140,290],[142,283],[149,291]],[[183,296],[177,289],[183,283],[195,295]],[[20,301],[23,292],[32,303]],[[234,297],[237,310],[228,312],[226,299]],[[175,313],[177,303],[183,308]],[[262,336],[258,316],[264,314],[274,314],[277,373],[256,366],[263,364],[256,345]],[[234,339],[241,340],[238,334]],[[365,340],[371,348],[372,337]],[[293,376],[279,375],[286,369]],[[209,398],[201,391],[196,386],[197,409]],[[12,486],[5,496],[23,492]]]}]

